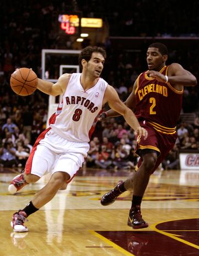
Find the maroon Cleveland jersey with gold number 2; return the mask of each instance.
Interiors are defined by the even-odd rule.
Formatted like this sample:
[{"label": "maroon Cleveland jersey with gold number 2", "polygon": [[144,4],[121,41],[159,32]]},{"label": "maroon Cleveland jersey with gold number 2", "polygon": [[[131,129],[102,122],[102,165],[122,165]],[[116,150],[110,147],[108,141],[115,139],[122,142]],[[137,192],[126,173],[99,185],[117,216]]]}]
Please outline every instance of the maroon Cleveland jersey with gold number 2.
[{"label": "maroon Cleveland jersey with gold number 2", "polygon": [[[160,73],[167,75],[167,69],[164,66]],[[135,115],[158,132],[173,134],[181,112],[182,94],[183,90],[177,91],[169,82],[148,77],[145,71],[137,79]]]}]

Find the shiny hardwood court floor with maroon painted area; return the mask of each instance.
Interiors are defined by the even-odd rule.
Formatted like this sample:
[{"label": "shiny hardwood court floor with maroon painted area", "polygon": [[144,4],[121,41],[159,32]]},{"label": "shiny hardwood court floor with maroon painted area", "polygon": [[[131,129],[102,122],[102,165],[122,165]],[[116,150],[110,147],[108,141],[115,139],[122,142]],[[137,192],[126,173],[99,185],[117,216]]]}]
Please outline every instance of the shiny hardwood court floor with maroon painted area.
[{"label": "shiny hardwood court floor with maroon painted area", "polygon": [[29,232],[15,233],[12,215],[31,200],[49,177],[9,195],[17,169],[0,169],[0,256],[187,256],[199,255],[199,171],[156,171],[142,203],[148,228],[127,226],[132,193],[110,206],[100,198],[128,171],[82,169],[67,187],[30,215]]}]

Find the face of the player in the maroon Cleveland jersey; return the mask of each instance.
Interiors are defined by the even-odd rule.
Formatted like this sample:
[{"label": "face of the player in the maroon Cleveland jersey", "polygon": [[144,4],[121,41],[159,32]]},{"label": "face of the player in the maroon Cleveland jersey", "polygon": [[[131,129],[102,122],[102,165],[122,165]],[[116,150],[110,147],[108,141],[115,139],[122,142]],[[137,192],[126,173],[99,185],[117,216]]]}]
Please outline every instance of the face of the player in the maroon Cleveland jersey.
[{"label": "face of the player in the maroon Cleveland jersey", "polygon": [[167,55],[161,55],[158,48],[148,48],[146,52],[146,61],[149,70],[159,71],[165,65]]}]

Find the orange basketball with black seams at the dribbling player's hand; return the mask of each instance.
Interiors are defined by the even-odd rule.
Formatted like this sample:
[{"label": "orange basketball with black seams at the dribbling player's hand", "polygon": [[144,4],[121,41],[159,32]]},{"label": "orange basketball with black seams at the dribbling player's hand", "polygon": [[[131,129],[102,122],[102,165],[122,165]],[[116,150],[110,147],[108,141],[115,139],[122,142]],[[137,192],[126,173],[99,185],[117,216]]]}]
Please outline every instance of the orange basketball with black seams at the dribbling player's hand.
[{"label": "orange basketball with black seams at the dribbling player's hand", "polygon": [[12,90],[20,96],[31,95],[38,84],[38,77],[32,69],[21,67],[11,75],[10,85]]}]

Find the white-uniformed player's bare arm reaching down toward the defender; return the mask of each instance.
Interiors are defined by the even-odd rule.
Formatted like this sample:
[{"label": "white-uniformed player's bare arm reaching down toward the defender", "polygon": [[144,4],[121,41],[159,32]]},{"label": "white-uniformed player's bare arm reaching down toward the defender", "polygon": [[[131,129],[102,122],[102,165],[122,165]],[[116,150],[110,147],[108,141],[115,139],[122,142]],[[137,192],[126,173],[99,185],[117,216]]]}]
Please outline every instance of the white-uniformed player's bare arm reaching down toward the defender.
[{"label": "white-uniformed player's bare arm reaching down toward the defender", "polygon": [[133,111],[124,105],[124,103],[119,99],[116,90],[112,86],[107,86],[104,98],[108,102],[110,108],[124,117],[125,121],[135,130],[137,135],[144,136],[144,138],[147,137],[148,134],[146,130],[140,127],[138,119],[135,117]]}]

